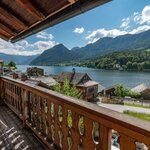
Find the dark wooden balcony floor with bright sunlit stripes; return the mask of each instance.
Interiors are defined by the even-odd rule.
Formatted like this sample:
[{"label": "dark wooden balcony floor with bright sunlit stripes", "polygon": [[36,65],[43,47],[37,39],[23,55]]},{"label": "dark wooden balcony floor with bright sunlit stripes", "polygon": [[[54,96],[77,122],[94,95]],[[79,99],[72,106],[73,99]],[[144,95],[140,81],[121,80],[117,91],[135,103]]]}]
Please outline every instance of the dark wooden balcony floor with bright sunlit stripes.
[{"label": "dark wooden balcony floor with bright sunlit stripes", "polygon": [[35,136],[23,128],[22,122],[6,106],[0,106],[0,149],[1,150],[44,150]]}]

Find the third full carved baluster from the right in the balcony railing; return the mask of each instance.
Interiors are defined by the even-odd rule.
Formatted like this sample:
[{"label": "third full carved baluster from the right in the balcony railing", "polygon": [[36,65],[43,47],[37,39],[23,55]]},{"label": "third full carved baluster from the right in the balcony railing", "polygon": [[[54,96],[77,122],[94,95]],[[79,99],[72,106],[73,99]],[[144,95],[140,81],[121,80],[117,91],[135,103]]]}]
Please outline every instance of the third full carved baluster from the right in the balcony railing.
[{"label": "third full carved baluster from the right in the balcony railing", "polygon": [[95,144],[92,137],[93,121],[87,117],[84,117],[84,120],[85,133],[83,136],[83,147],[86,150],[91,150],[95,148]]}]

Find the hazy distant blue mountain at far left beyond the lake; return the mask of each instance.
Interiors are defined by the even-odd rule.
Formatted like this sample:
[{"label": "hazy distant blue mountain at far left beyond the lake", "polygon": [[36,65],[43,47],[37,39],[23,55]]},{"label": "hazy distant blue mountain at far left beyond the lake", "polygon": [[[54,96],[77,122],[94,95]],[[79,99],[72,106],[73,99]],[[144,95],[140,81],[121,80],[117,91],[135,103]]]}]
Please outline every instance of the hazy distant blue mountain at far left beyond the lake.
[{"label": "hazy distant blue mountain at far left beyond the lake", "polygon": [[0,53],[0,58],[4,60],[4,63],[14,61],[17,65],[28,65],[34,60],[38,55],[33,56],[21,56],[21,55],[9,55]]}]

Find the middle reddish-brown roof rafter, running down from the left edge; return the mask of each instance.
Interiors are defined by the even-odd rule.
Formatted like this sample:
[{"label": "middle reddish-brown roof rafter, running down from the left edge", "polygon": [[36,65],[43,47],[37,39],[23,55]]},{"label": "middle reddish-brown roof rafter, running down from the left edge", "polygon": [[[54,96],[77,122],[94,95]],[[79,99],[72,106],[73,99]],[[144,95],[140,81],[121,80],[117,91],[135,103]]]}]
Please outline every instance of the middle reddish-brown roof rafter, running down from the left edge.
[{"label": "middle reddish-brown roof rafter, running down from the left edge", "polygon": [[19,25],[23,29],[26,29],[28,27],[24,22],[22,22],[20,19],[18,19],[16,16],[14,16],[12,13],[10,13],[8,10],[2,8],[1,6],[0,6],[0,15],[5,17],[6,19],[12,21],[13,24]]}]

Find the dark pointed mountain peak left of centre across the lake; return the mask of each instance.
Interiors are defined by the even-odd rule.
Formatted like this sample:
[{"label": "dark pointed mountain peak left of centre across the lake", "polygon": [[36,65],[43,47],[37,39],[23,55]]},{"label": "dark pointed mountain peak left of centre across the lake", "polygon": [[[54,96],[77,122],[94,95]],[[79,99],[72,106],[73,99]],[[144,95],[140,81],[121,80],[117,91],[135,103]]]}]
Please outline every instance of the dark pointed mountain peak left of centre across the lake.
[{"label": "dark pointed mountain peak left of centre across the lake", "polygon": [[63,44],[59,44],[51,49],[45,50],[31,62],[31,65],[57,65],[76,60],[77,58],[78,55],[74,51],[72,52]]}]

